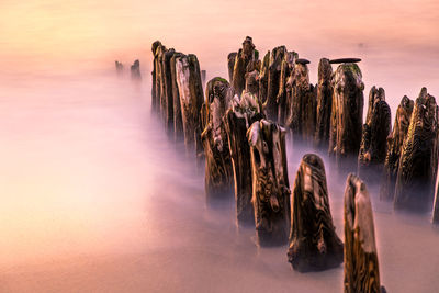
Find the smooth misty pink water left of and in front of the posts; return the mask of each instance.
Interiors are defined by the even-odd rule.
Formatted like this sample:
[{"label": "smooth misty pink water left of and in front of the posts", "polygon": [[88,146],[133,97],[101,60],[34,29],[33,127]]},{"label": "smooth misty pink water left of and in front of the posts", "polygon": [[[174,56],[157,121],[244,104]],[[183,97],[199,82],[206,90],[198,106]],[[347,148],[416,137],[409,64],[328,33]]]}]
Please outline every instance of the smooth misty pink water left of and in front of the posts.
[{"label": "smooth misty pink water left of and in front of the posts", "polygon": [[[342,266],[296,272],[286,246],[258,248],[254,228],[237,228],[233,201],[206,207],[203,170],[151,115],[147,78],[3,80],[0,292],[342,291]],[[288,147],[290,182],[308,151]],[[324,158],[342,239],[346,178]],[[435,292],[430,215],[394,213],[371,195],[382,284]]]}]

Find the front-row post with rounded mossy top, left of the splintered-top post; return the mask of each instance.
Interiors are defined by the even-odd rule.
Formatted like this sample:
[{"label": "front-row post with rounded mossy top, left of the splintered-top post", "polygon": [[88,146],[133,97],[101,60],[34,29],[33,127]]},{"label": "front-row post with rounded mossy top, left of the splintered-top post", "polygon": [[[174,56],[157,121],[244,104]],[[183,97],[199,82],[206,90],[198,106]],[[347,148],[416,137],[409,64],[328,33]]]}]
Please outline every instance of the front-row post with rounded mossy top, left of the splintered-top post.
[{"label": "front-row post with rounded mossy top, left of the splintered-top post", "polygon": [[207,203],[232,193],[233,171],[224,115],[232,102],[227,80],[216,77],[206,86],[206,125],[201,134],[205,156],[205,192]]}]

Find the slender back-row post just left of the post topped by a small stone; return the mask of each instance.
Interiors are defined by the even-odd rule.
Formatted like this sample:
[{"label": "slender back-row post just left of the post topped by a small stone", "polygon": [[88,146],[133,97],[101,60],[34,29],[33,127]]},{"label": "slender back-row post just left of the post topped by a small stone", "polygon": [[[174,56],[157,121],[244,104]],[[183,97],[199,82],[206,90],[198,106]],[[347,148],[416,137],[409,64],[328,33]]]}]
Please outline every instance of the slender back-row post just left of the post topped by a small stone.
[{"label": "slender back-row post just left of the post topped by a small stone", "polygon": [[297,54],[295,52],[286,52],[283,56],[282,65],[281,65],[281,76],[279,79],[279,92],[278,92],[278,123],[281,126],[286,125],[286,119],[289,116],[290,103],[289,101],[289,91],[286,83],[289,82],[289,78],[294,70],[294,64],[297,58]]}]

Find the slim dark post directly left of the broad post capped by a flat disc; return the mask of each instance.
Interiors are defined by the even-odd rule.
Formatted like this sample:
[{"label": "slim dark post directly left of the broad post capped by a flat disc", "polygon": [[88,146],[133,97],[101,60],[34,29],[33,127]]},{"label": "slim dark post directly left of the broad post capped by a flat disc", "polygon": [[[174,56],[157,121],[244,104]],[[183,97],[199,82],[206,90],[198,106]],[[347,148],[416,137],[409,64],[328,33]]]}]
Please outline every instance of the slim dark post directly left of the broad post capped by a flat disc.
[{"label": "slim dark post directly left of the broad post capped by a flat disc", "polygon": [[328,148],[330,111],[333,106],[333,67],[329,60],[322,58],[318,63],[317,84],[317,109],[316,109],[316,132],[314,146],[316,148]]}]

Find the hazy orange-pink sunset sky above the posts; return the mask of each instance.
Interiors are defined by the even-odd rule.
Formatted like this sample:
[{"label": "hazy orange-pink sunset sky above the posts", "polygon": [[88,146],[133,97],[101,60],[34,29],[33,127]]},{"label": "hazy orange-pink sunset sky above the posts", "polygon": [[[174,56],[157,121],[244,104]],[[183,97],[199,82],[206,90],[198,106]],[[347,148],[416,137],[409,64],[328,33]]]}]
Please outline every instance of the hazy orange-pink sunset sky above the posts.
[{"label": "hazy orange-pink sunset sky above the posts", "polygon": [[160,40],[196,54],[209,77],[226,76],[227,54],[250,35],[261,54],[286,45],[308,58],[314,82],[320,57],[360,57],[367,91],[382,86],[395,104],[421,86],[439,94],[438,29],[435,0],[2,0],[0,72],[106,70],[135,58],[149,72]]}]

